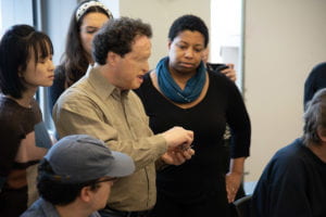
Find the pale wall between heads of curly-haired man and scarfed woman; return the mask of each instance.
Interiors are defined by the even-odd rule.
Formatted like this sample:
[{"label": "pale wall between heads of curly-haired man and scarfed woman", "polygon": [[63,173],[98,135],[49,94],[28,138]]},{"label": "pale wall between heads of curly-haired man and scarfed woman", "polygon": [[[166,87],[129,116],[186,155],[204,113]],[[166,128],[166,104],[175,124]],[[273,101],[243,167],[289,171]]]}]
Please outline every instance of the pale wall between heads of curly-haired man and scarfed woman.
[{"label": "pale wall between heads of curly-haired man and scarfed woman", "polygon": [[141,18],[153,30],[151,68],[167,55],[168,27],[185,14],[200,16],[210,26],[210,0],[120,0],[120,15]]}]

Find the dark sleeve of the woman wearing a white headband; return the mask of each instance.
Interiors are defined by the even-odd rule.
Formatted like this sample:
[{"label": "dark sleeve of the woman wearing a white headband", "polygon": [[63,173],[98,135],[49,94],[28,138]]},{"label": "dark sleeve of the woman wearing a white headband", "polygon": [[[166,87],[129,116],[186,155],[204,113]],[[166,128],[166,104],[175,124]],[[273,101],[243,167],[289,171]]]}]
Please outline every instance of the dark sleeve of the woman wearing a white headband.
[{"label": "dark sleeve of the woman wearing a white headband", "polygon": [[54,81],[51,87],[48,88],[48,106],[49,111],[52,112],[53,106],[61,95],[61,93],[65,90],[64,82],[65,82],[65,73],[63,66],[58,66],[54,71]]}]

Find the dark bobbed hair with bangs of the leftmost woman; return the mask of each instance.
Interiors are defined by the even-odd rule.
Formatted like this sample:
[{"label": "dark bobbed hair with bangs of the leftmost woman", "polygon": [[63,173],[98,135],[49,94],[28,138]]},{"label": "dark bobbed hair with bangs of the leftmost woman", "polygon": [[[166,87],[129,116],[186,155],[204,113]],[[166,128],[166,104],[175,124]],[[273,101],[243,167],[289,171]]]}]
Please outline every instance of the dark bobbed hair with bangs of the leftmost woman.
[{"label": "dark bobbed hair with bangs of the leftmost woman", "polygon": [[18,73],[24,72],[34,52],[35,64],[39,58],[53,54],[50,38],[28,25],[14,25],[0,42],[0,90],[3,94],[21,99],[26,90]]}]

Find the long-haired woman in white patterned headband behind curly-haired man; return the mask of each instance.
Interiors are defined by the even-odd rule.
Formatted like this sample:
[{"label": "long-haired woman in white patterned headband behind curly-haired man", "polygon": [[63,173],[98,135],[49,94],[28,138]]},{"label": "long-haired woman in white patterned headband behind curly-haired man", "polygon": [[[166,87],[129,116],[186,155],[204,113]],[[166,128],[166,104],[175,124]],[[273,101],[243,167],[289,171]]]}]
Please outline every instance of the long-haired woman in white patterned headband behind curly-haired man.
[{"label": "long-haired woman in white patterned headband behind curly-haired man", "polygon": [[70,22],[65,52],[61,64],[55,67],[55,79],[48,91],[50,111],[61,93],[85,75],[89,64],[93,64],[92,38],[112,18],[110,10],[99,1],[87,0],[76,7]]}]

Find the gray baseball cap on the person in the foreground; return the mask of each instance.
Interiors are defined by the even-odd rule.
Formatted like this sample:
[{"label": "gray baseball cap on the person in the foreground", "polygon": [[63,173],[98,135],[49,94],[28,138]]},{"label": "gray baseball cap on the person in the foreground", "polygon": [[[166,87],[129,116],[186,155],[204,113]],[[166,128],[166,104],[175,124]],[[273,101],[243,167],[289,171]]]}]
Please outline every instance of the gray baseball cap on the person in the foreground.
[{"label": "gray baseball cap on the person in the foreground", "polygon": [[134,173],[131,157],[111,151],[104,142],[87,135],[59,140],[45,158],[54,171],[54,180],[83,183],[101,177],[124,177]]}]

